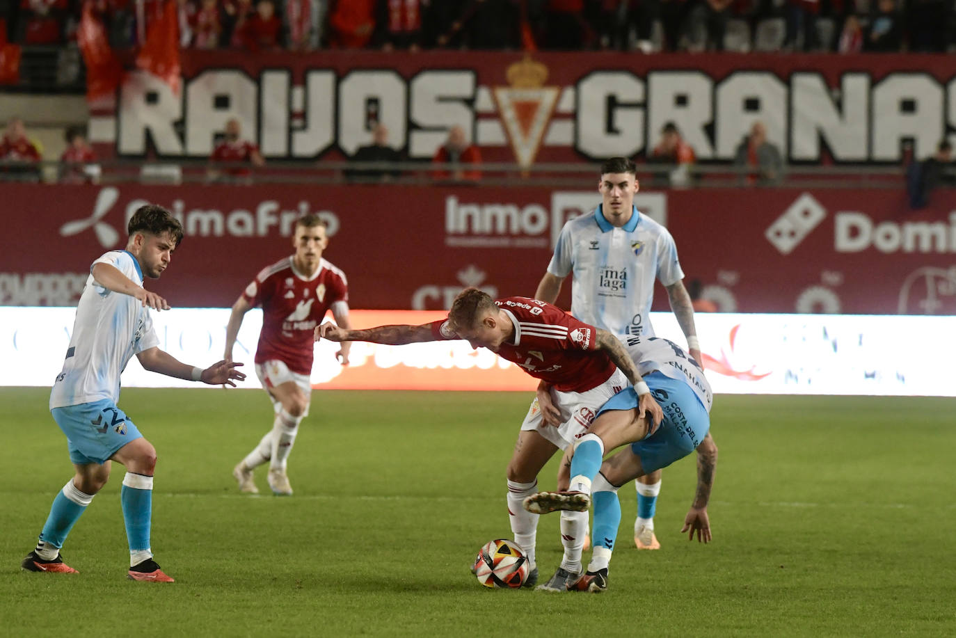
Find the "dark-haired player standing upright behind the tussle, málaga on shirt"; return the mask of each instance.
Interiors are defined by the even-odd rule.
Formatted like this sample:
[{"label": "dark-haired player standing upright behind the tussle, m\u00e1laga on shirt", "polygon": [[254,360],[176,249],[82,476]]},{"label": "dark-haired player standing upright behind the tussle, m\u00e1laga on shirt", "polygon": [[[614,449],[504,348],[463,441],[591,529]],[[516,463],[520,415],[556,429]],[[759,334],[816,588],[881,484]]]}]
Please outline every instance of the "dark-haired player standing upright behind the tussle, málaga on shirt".
[{"label": "dark-haired player standing upright behind the tussle, m\u00e1laga on shirt", "polygon": [[[674,239],[661,224],[634,206],[634,195],[640,189],[636,170],[634,163],[623,157],[601,165],[597,183],[600,205],[561,229],[554,256],[534,297],[554,303],[564,279],[573,274],[571,314],[577,319],[619,337],[653,337],[650,311],[657,278],[667,289],[690,355],[703,363],[693,302],[682,282],[684,271]],[[638,549],[659,549],[654,510],[661,493],[661,472],[641,476],[635,486],[638,517],[634,521],[634,544]]]}]

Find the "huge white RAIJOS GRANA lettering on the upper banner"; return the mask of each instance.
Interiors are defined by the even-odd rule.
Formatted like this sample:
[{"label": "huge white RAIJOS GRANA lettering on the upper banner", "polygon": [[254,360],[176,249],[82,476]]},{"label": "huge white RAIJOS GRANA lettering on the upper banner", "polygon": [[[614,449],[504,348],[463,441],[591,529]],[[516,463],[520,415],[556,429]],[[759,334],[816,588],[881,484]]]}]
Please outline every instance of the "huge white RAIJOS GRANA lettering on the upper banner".
[{"label": "huge white RAIJOS GRANA lettering on the upper banner", "polygon": [[[831,156],[839,162],[894,162],[902,159],[902,142],[913,140],[922,158],[947,128],[956,126],[952,78],[941,81],[920,70],[879,81],[874,74],[851,70],[831,86],[824,77],[832,74],[823,69],[780,75],[737,71],[720,80],[684,69],[656,69],[643,76],[626,69],[585,69],[569,84],[535,89],[548,89],[548,104],[558,93],[575,97],[574,120],[551,119],[545,111],[550,114],[553,107],[546,104],[534,118],[522,114],[525,124],[534,126],[515,136],[511,102],[489,99],[484,104],[489,110],[479,107],[478,96],[503,88],[478,83],[479,73],[492,77],[495,71],[488,61],[467,69],[423,68],[410,77],[388,68],[340,76],[330,69],[303,69],[303,77],[293,79],[299,64],[291,58],[289,69],[262,69],[257,76],[206,68],[184,78],[182,97],[150,74],[131,73],[120,89],[116,132],[98,127],[101,137],[94,142],[116,143],[119,155],[143,156],[153,148],[161,158],[208,157],[225,121],[237,118],[244,137],[259,141],[267,157],[313,159],[334,147],[353,153],[370,140],[369,122],[383,121],[391,132],[389,143],[406,148],[412,159],[426,159],[445,141],[447,129],[458,124],[479,146],[521,138],[513,150],[516,160],[528,164],[537,143],[568,146],[570,139],[586,158],[646,153],[663,123],[675,121],[698,159],[728,162],[750,124],[759,120],[767,125],[770,141],[793,161]],[[503,64],[512,65],[511,59]],[[382,67],[388,66],[382,58]],[[550,73],[554,76],[554,70]],[[544,103],[539,98],[522,108],[535,100]],[[478,119],[486,112],[498,120]],[[506,129],[510,136],[502,134]]]}]

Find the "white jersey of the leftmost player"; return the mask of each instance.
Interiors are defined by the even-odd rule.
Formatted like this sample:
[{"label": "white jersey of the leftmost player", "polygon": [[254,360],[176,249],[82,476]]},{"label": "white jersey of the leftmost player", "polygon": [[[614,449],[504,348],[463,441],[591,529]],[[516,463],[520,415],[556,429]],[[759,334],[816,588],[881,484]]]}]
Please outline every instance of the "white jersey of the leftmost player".
[{"label": "white jersey of the leftmost player", "polygon": [[[126,251],[103,254],[96,264],[117,268],[142,285],[136,258]],[[93,266],[90,267],[91,271]],[[160,344],[149,309],[129,295],[100,286],[91,274],[76,305],[73,335],[63,370],[56,376],[50,408],[110,399],[120,400],[120,374],[130,358]]]}]

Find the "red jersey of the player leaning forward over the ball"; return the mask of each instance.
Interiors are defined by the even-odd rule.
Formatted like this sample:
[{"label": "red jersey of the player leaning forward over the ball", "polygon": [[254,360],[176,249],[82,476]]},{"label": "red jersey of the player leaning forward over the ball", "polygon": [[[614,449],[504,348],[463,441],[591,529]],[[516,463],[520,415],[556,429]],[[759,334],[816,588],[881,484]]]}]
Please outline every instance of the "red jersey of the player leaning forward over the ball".
[{"label": "red jersey of the player leaning forward over the ball", "polygon": [[[603,384],[617,369],[607,353],[598,350],[593,325],[529,297],[505,297],[495,303],[514,323],[514,341],[502,343],[497,354],[535,379],[560,392],[584,392]],[[432,322],[432,335],[441,341],[461,339],[447,322]]]}]

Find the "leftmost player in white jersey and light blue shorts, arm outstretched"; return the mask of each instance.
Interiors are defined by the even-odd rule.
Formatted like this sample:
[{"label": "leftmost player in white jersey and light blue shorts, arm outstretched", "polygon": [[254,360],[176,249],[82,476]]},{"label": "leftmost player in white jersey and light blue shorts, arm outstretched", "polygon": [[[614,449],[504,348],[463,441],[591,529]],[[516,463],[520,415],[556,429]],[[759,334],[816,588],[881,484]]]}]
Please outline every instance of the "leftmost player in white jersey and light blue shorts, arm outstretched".
[{"label": "leftmost player in white jersey and light blue shorts, arm outstretched", "polygon": [[24,569],[76,573],[59,550],[76,520],[106,484],[110,461],[126,468],[120,503],[129,540],[134,581],[172,583],[153,560],[149,531],[152,519],[156,450],[117,406],[120,373],[135,354],[142,367],[177,379],[209,385],[235,385],[246,375],[242,363],[215,363],[205,370],[176,361],[158,347],[149,308],[168,310],[163,297],[142,287],[143,275],[158,278],[183,238],[183,227],[158,206],[143,206],[129,220],[124,251],[110,251],[93,262],[76,306],[73,336],[63,370],[50,394],[50,411],[66,434],[76,475],[54,498],[40,539]]}]

